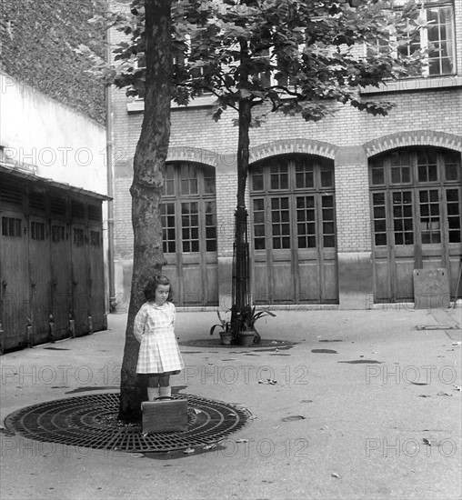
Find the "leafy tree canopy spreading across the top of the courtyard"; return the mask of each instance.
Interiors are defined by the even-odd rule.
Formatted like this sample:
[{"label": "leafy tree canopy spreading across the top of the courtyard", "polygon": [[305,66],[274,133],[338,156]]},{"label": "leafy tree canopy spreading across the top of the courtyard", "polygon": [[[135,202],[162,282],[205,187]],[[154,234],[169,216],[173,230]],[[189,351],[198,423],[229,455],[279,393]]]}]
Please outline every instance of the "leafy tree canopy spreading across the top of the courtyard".
[{"label": "leafy tree canopy spreading across the top of the courtyard", "polygon": [[[421,51],[403,55],[422,29],[410,1],[390,16],[379,0],[178,0],[173,5],[173,98],[216,95],[218,119],[245,99],[269,103],[271,111],[316,121],[331,114],[334,101],[374,115],[391,105],[360,97],[366,85],[417,74]],[[387,15],[388,12],[388,15]],[[114,83],[127,95],[145,91],[144,2],[110,15],[126,35],[114,51]],[[395,42],[393,42],[395,40]],[[257,121],[257,120],[256,120]]]}]

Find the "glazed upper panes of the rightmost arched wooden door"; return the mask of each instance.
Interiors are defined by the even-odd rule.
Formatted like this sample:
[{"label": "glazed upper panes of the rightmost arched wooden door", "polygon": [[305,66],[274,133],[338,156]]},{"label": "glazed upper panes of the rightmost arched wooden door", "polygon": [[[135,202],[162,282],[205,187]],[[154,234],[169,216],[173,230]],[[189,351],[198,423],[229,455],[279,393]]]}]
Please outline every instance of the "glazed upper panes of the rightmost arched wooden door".
[{"label": "glazed upper panes of the rightmost arched wooden door", "polygon": [[460,243],[460,155],[404,149],[371,161],[374,244]]}]

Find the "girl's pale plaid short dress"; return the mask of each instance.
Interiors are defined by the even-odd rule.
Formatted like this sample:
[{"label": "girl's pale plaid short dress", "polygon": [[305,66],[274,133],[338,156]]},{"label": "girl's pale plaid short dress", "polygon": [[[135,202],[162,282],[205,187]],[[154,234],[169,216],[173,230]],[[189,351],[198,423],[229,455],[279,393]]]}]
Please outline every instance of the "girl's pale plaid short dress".
[{"label": "girl's pale plaid short dress", "polygon": [[176,309],[146,302],[136,314],[133,333],[139,347],[137,374],[163,374],[185,367],[174,331]]}]

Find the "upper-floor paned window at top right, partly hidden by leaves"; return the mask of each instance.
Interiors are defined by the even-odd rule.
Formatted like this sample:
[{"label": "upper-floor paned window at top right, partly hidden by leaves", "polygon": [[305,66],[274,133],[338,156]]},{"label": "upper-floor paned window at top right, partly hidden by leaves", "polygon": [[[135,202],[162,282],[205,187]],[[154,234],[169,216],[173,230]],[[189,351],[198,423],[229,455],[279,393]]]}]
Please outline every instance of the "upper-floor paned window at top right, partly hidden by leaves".
[{"label": "upper-floor paned window at top right, partly hidden by leaves", "polygon": [[[389,11],[391,18],[400,15],[403,0],[389,2],[393,9]],[[418,49],[427,51],[422,63],[423,76],[453,75],[456,73],[456,37],[454,25],[454,2],[448,0],[431,0],[421,3],[418,12],[420,24],[418,30],[405,30],[406,35],[390,32],[389,42],[383,39],[377,42],[376,50],[395,55],[411,55]],[[390,23],[393,26],[393,23]],[[393,29],[393,28],[392,28]],[[394,45],[397,48],[390,48]]]}]

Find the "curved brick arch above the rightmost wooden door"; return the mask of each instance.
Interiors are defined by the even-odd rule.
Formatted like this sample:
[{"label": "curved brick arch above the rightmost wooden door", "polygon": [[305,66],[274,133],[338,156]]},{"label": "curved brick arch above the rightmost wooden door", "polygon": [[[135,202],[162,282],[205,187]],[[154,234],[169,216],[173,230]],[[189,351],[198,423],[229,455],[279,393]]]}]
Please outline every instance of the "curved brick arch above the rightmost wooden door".
[{"label": "curved brick arch above the rightmost wooden door", "polygon": [[363,147],[367,157],[370,157],[391,149],[397,149],[398,147],[418,145],[432,145],[454,151],[462,151],[462,138],[459,135],[447,134],[447,132],[410,130],[408,132],[384,135],[363,144]]}]

